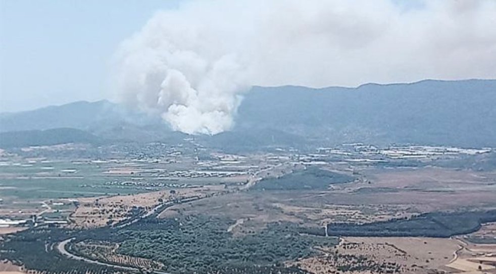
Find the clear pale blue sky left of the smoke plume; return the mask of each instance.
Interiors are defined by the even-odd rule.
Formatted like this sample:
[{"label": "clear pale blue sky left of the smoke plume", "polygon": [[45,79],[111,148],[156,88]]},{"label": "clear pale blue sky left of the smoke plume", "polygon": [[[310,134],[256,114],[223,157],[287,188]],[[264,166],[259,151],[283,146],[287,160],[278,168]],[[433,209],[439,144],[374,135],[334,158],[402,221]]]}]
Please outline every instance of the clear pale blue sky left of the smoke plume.
[{"label": "clear pale blue sky left of the smoke plume", "polygon": [[108,98],[117,45],[177,1],[0,0],[0,112]]}]

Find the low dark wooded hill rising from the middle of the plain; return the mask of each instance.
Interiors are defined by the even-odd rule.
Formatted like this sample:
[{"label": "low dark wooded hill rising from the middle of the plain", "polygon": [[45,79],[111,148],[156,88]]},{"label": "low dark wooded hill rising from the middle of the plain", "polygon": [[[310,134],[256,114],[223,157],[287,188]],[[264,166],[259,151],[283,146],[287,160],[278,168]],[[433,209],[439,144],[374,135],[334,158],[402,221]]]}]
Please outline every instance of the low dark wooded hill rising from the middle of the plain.
[{"label": "low dark wooded hill rising from the middle of the plain", "polygon": [[252,189],[264,190],[301,190],[301,189],[327,189],[330,184],[348,183],[354,177],[335,173],[316,167],[295,171],[279,178],[265,178],[258,182]]}]

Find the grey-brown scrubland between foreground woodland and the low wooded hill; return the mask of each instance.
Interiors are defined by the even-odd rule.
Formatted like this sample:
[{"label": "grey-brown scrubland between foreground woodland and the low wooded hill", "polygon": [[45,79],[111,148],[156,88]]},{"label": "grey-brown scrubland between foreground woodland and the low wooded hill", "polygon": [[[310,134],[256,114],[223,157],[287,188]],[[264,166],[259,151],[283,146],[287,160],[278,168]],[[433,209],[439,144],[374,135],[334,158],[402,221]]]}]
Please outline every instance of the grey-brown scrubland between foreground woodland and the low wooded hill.
[{"label": "grey-brown scrubland between foreground woodland and the low wooded hill", "polygon": [[[367,223],[411,216],[408,207],[399,205],[361,205],[313,203],[306,194],[286,196],[279,192],[240,192],[174,205],[160,217],[206,214],[244,220],[232,228],[244,234],[265,228],[271,222],[293,222],[303,226],[324,226],[330,222]],[[305,200],[307,202],[302,202]]]}]

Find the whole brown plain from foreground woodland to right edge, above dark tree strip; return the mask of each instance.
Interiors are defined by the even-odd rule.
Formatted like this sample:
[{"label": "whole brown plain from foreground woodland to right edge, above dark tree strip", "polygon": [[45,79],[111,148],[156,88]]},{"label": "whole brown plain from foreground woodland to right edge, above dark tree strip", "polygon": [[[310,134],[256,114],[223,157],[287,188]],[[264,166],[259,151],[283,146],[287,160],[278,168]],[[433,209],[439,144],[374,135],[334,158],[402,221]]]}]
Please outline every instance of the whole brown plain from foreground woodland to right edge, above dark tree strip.
[{"label": "whole brown plain from foreground woodland to right edge, above dark tree strip", "polygon": [[[235,234],[242,234],[276,221],[324,226],[386,221],[431,211],[496,208],[496,188],[479,189],[495,183],[492,173],[437,168],[365,173],[366,181],[325,191],[251,190],[175,205],[161,217],[207,214],[242,219],[242,224],[232,228]],[[437,189],[440,184],[448,190]]]}]

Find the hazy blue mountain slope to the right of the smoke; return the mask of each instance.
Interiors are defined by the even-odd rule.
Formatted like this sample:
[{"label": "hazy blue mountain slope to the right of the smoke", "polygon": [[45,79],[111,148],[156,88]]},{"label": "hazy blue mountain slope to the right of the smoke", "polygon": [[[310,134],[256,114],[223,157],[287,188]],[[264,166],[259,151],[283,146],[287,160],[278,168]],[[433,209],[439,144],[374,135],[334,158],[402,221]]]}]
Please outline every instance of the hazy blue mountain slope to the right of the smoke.
[{"label": "hazy blue mountain slope to the right of the smoke", "polygon": [[330,142],[496,146],[496,81],[254,88],[238,129],[275,128]]}]

